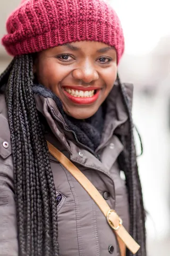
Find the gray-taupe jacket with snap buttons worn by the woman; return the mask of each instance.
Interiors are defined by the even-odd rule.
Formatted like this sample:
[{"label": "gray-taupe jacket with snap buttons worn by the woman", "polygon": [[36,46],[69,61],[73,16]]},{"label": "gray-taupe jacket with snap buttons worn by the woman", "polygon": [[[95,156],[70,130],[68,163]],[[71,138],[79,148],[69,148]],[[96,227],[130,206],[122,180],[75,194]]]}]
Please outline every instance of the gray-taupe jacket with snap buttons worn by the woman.
[{"label": "gray-taupe jacket with snap buttons worn by the woman", "polygon": [[[133,87],[125,85],[130,103]],[[105,118],[97,159],[86,147],[65,132],[67,125],[52,98],[35,95],[37,109],[44,115],[53,133],[46,139],[60,149],[94,184],[129,230],[129,206],[125,182],[120,177],[117,157],[123,145],[117,134],[128,133],[128,116],[118,85],[107,98]],[[53,115],[52,115],[53,112]],[[19,256],[14,201],[13,162],[5,97],[0,94],[0,255]],[[58,242],[61,256],[120,256],[113,230],[98,206],[72,175],[50,156],[58,200]]]}]

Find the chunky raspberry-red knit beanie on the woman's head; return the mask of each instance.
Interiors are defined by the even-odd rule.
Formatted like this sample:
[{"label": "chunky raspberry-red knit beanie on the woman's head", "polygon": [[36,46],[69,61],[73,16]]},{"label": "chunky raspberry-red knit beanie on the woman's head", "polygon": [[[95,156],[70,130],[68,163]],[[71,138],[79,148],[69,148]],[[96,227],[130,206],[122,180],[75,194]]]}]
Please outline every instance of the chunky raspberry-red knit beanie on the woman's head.
[{"label": "chunky raspberry-red knit beanie on the woman's head", "polygon": [[22,0],[6,29],[2,44],[13,56],[76,41],[114,46],[117,63],[124,52],[120,20],[103,0]]}]

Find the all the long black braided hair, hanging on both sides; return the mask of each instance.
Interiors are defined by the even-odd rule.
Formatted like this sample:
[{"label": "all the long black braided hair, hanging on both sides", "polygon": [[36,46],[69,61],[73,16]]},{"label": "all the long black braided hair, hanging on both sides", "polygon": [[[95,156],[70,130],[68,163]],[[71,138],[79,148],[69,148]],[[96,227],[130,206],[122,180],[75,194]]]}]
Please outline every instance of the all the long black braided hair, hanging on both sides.
[{"label": "all the long black braided hair, hanging on both sides", "polygon": [[[138,174],[133,124],[128,97],[120,79],[128,112],[129,135],[122,136],[124,151],[118,161],[126,176],[131,216],[130,234],[146,255],[145,211]],[[15,57],[0,77],[5,85],[14,165],[14,185],[20,256],[58,256],[57,202],[48,148],[33,98],[32,55]],[[128,256],[132,254],[128,251]]]}]

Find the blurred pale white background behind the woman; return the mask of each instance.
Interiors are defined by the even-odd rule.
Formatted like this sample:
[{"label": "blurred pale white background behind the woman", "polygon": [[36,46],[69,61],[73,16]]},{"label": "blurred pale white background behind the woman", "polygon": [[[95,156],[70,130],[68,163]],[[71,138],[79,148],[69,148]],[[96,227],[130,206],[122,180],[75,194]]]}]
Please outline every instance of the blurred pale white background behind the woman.
[{"label": "blurred pale white background behind the woman", "polygon": [[[0,1],[0,36],[21,0]],[[133,119],[143,141],[138,158],[147,210],[148,256],[170,254],[170,15],[169,0],[105,0],[121,19],[122,82],[134,84]],[[0,71],[10,62],[0,45]],[[135,134],[137,149],[139,138]],[[139,152],[140,153],[140,152]]]}]

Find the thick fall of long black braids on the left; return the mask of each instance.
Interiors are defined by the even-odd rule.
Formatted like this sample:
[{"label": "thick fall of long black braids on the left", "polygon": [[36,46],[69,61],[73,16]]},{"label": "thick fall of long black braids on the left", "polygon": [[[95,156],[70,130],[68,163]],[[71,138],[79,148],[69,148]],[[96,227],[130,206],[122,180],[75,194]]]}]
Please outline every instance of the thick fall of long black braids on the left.
[{"label": "thick fall of long black braids on the left", "polygon": [[19,255],[57,256],[57,204],[48,149],[32,93],[31,55],[14,58],[6,84],[11,131]]}]

